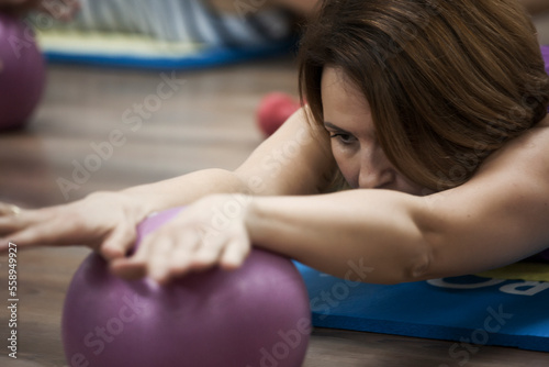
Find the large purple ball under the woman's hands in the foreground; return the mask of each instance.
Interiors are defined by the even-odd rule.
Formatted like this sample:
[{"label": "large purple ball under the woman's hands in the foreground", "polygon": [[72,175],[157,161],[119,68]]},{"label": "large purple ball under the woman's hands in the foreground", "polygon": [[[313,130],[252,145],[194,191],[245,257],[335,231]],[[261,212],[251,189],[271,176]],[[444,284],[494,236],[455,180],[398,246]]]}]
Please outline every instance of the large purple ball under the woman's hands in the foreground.
[{"label": "large purple ball under the woman's hands in the foreground", "polygon": [[[137,243],[180,210],[145,220]],[[61,329],[72,367],[299,367],[311,311],[292,262],[269,252],[167,286],[122,280],[91,254],[69,286]]]}]

